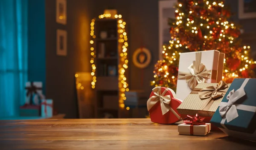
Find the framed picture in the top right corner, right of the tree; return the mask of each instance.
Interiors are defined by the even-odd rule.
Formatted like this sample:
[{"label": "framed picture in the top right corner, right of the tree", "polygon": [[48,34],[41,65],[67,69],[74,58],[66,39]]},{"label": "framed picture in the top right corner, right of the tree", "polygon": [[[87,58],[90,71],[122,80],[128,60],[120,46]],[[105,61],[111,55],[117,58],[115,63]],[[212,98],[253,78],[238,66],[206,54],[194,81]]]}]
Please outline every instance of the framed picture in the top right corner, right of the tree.
[{"label": "framed picture in the top right corner, right of the tree", "polygon": [[256,0],[238,0],[239,19],[256,18]]}]

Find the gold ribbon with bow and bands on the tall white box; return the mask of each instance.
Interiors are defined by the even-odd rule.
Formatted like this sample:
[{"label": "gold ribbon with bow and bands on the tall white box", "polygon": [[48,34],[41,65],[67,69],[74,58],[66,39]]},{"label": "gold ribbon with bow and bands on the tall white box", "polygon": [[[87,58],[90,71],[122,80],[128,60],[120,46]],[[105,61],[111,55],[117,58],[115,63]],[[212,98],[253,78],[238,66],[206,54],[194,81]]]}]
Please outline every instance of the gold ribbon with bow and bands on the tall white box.
[{"label": "gold ribbon with bow and bands on the tall white box", "polygon": [[201,63],[202,53],[195,53],[195,61],[188,67],[189,73],[179,72],[178,79],[186,79],[189,88],[194,89],[198,83],[205,83],[206,79],[217,78],[217,71],[207,70],[205,65]]}]

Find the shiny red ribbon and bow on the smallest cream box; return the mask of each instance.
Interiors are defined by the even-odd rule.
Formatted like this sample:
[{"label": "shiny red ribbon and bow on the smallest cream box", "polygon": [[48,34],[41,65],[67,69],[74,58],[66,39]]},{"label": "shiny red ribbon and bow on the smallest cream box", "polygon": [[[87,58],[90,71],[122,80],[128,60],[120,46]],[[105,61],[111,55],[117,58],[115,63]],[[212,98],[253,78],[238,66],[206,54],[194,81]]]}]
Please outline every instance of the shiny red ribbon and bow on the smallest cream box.
[{"label": "shiny red ribbon and bow on the smallest cream box", "polygon": [[[203,122],[204,119],[205,118],[200,117],[198,114],[195,114],[194,117],[187,115],[187,117],[183,119],[183,122],[186,125],[190,125],[190,135],[194,134],[194,128],[193,128],[194,125],[207,125],[205,122]],[[207,127],[208,127],[207,133],[209,133],[209,125],[207,125]]]}]

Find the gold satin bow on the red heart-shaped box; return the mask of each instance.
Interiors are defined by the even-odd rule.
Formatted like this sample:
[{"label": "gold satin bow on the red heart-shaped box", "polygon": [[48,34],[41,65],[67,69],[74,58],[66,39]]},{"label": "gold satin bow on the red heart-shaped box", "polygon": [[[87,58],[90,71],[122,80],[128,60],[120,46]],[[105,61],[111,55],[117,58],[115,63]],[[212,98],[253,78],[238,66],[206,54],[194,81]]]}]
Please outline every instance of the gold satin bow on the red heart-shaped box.
[{"label": "gold satin bow on the red heart-shaped box", "polygon": [[161,106],[161,110],[162,110],[162,114],[166,114],[170,109],[170,102],[171,102],[171,96],[170,95],[166,95],[166,92],[168,91],[168,89],[165,89],[165,91],[163,93],[161,93],[161,87],[155,87],[153,88],[153,92],[154,95],[151,96],[148,101],[147,101],[147,108],[148,111],[158,102],[160,101],[160,106]]}]

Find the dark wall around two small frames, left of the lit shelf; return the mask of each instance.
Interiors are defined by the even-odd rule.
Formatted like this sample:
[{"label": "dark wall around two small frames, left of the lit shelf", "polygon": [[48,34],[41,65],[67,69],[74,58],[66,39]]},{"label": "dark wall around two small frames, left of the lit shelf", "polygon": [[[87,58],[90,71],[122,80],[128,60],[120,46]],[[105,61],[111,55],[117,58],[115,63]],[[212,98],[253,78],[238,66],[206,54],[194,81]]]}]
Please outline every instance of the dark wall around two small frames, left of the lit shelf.
[{"label": "dark wall around two small frames, left of the lit shelf", "polygon": [[[53,99],[58,113],[77,118],[75,73],[90,71],[90,0],[67,0],[67,25],[55,21],[55,0],[45,0],[46,97]],[[56,30],[67,31],[67,56],[56,55]]]}]

